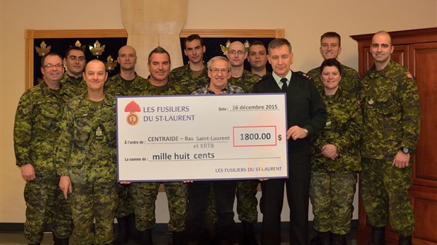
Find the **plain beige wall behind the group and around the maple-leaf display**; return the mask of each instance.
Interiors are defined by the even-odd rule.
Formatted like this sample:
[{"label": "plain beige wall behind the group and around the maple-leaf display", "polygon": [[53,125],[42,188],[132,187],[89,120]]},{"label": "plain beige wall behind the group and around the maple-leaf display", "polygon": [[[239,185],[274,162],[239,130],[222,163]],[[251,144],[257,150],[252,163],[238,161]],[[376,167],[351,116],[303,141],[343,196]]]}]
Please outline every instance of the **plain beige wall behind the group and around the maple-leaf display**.
[{"label": "plain beige wall behind the group and around the maple-leaf display", "polygon": [[[0,222],[24,222],[24,182],[14,165],[12,134],[25,84],[24,30],[122,29],[123,25],[118,0],[76,0],[70,5],[58,0],[0,3]],[[437,26],[435,0],[334,0],[317,6],[319,3],[322,1],[189,0],[184,28],[285,28],[285,37],[293,45],[293,70],[307,71],[321,62],[319,37],[326,31],[342,35],[340,61],[357,68],[357,44],[350,35]],[[161,195],[159,201],[165,203],[165,197]],[[168,219],[162,207],[157,210],[158,222]]]}]

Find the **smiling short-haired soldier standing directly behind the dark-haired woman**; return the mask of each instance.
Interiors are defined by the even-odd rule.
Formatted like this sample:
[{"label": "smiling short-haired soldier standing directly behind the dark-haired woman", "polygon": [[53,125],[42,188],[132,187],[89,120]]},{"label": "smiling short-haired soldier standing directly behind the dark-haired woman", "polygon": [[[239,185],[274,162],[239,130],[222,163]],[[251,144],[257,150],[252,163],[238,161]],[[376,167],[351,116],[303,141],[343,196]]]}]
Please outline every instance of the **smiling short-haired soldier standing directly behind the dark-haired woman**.
[{"label": "smiling short-haired soldier standing directly behind the dark-haired woman", "polygon": [[[341,53],[341,37],[337,32],[326,32],[320,37],[320,54],[324,60],[328,58],[338,59]],[[360,89],[360,80],[358,72],[346,65],[341,65],[340,88],[343,93],[349,93],[357,96]],[[307,75],[311,76],[319,92],[324,92],[324,84],[320,79],[320,67],[309,70]]]}]

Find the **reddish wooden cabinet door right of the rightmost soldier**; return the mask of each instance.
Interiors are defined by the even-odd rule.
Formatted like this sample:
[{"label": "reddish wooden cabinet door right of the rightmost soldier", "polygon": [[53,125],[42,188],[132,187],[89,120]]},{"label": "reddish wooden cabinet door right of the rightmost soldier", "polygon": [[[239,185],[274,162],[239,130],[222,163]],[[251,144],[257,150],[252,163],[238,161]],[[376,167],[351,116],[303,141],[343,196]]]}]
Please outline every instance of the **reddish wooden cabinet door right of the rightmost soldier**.
[{"label": "reddish wooden cabinet door right of the rightmost soldier", "polygon": [[[410,71],[419,89],[420,137],[410,196],[414,206],[413,244],[437,243],[437,42],[410,45]],[[432,218],[430,218],[432,217]]]}]

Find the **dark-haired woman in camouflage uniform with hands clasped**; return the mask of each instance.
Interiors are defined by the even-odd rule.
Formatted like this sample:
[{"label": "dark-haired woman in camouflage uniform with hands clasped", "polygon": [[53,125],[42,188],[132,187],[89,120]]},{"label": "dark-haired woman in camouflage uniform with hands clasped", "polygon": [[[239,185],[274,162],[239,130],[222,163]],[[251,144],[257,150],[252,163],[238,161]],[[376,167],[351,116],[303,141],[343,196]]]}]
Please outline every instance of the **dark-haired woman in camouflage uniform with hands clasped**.
[{"label": "dark-haired woman in camouflage uniform with hands clasped", "polygon": [[[314,213],[312,243],[343,245],[350,231],[357,172],[361,170],[359,139],[362,114],[355,96],[339,89],[341,64],[335,58],[321,63],[321,81],[328,119],[314,141],[309,198]],[[316,241],[316,242],[315,242]]]}]

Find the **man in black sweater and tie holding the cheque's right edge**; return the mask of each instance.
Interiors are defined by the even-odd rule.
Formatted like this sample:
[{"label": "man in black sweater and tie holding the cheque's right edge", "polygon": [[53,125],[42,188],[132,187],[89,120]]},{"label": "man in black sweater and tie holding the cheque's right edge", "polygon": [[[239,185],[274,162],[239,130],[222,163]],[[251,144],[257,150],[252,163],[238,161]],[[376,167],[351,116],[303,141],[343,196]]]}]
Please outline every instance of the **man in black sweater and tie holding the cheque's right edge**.
[{"label": "man in black sweater and tie holding the cheque's right edge", "polygon": [[281,244],[281,211],[284,183],[290,207],[290,244],[308,244],[308,199],[311,174],[309,138],[326,123],[326,108],[311,78],[293,72],[291,44],[287,39],[269,43],[269,63],[273,73],[254,84],[254,93],[286,93],[288,178],[261,182],[263,211],[261,244]]}]

